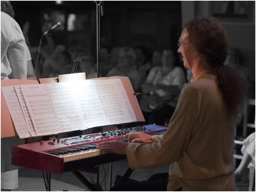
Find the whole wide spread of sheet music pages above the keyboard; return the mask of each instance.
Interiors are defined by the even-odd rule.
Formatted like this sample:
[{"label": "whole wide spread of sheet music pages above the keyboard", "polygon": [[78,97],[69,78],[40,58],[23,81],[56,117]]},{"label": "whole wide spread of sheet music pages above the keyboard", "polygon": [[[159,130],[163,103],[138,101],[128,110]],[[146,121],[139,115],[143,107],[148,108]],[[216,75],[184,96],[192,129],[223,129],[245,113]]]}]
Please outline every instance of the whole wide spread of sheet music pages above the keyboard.
[{"label": "whole wide spread of sheet music pages above the keyboard", "polygon": [[1,89],[20,138],[145,121],[128,77]]}]

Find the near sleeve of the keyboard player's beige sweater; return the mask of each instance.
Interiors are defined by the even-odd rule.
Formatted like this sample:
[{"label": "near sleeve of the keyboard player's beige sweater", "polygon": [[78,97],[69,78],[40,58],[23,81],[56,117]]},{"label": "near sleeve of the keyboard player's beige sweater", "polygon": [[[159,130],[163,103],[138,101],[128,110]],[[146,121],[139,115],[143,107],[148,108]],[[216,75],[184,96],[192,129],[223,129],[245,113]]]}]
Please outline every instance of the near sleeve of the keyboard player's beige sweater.
[{"label": "near sleeve of the keyboard player's beige sweater", "polygon": [[[163,140],[153,143],[129,143],[126,148],[131,168],[146,168],[172,164],[179,159],[188,145],[195,124],[197,93],[187,88],[180,95]],[[154,138],[155,141],[156,138]]]}]

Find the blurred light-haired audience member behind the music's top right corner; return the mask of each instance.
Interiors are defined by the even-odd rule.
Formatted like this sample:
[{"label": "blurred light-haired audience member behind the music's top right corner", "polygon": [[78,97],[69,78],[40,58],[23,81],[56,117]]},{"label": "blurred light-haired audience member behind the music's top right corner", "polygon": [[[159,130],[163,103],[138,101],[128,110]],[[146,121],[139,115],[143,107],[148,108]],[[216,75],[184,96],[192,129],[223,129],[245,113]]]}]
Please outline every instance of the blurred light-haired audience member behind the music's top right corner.
[{"label": "blurred light-haired audience member behind the music's top right corner", "polygon": [[131,47],[122,47],[119,51],[118,65],[112,68],[107,76],[129,77],[134,91],[140,90],[141,74],[135,65],[136,54]]}]

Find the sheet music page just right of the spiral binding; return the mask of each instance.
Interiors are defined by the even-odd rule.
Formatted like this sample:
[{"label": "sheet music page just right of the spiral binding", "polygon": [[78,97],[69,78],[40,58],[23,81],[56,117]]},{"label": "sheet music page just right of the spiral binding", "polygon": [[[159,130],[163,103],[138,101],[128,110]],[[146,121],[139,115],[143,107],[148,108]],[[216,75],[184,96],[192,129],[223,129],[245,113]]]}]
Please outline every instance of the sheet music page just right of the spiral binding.
[{"label": "sheet music page just right of the spiral binding", "polygon": [[25,116],[26,122],[29,124],[32,121],[37,136],[63,132],[47,84],[25,84],[14,87],[16,92],[20,90],[22,93],[22,97],[18,95],[22,111],[24,113],[26,110],[29,111],[29,115]]}]

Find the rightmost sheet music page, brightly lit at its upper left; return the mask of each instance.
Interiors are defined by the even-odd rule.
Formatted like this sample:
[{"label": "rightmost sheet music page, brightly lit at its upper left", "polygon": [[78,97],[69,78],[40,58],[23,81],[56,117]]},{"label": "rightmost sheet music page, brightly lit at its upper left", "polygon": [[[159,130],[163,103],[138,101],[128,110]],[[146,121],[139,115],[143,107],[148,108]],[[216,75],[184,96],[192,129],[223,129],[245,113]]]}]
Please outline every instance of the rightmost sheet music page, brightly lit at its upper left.
[{"label": "rightmost sheet music page, brightly lit at its upper left", "polygon": [[87,80],[76,88],[87,127],[136,121],[120,79]]}]

